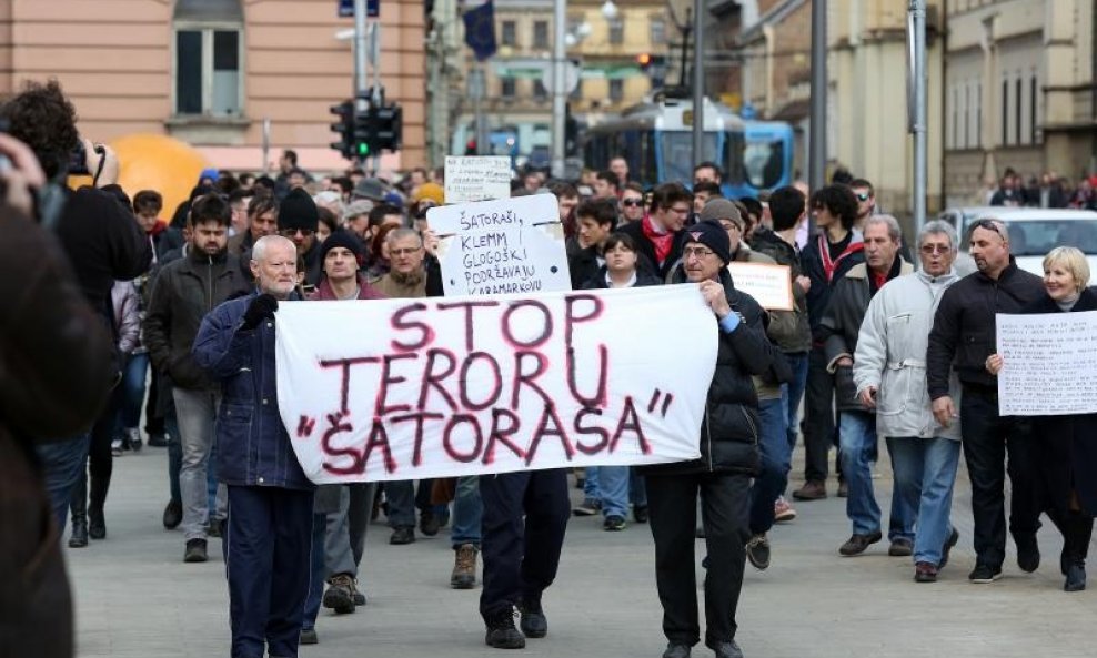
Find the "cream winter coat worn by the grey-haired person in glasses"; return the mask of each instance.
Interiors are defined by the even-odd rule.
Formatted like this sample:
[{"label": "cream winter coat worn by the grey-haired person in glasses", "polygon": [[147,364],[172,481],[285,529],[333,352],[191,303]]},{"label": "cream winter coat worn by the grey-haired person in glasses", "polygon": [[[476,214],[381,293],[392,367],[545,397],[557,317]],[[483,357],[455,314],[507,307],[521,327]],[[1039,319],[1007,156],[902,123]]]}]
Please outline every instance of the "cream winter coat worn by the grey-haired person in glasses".
[{"label": "cream winter coat worn by the grey-haired person in glasses", "polygon": [[[876,388],[876,433],[889,437],[945,437],[959,441],[954,422],[942,427],[933,416],[926,389],[926,346],[933,315],[955,272],[933,277],[925,272],[899,276],[868,304],[853,357],[853,379],[859,394]],[[949,391],[959,403],[959,379]]]}]

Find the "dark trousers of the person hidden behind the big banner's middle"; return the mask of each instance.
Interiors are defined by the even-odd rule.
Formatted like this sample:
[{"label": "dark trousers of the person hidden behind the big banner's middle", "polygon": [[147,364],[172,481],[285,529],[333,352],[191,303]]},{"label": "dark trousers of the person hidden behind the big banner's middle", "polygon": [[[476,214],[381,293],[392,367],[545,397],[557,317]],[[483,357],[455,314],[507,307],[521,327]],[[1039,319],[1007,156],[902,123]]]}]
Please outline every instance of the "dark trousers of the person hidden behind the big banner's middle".
[{"label": "dark trousers of the person hidden behind the big banner's middle", "polygon": [[480,496],[484,502],[480,614],[487,620],[510,614],[522,599],[540,599],[555,580],[571,502],[563,468],[482,475]]}]

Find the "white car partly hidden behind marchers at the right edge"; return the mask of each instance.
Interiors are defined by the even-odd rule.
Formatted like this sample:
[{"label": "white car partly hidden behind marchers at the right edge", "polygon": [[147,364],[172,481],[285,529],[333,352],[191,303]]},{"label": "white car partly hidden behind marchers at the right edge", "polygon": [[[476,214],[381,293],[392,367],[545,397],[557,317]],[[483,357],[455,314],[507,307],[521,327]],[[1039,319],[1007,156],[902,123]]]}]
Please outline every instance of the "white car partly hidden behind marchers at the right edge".
[{"label": "white car partly hidden behind marchers at the right edge", "polygon": [[940,213],[939,219],[955,226],[959,235],[960,257],[956,269],[960,274],[975,270],[975,263],[967,254],[972,224],[994,219],[1006,224],[1009,252],[1021,270],[1044,276],[1047,252],[1057,246],[1076,246],[1086,254],[1089,270],[1097,276],[1097,212],[994,205],[952,207]]}]

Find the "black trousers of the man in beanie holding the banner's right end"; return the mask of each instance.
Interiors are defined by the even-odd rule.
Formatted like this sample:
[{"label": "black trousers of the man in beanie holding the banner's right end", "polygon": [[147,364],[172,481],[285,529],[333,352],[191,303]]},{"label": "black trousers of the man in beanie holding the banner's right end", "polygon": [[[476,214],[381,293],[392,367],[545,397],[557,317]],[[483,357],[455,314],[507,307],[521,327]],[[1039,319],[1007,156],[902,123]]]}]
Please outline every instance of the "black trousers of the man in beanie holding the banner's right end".
[{"label": "black trousers of the man in beanie holding the banner's right end", "polygon": [[663,634],[674,644],[701,639],[694,544],[697,495],[708,549],[705,576],[705,644],[735,639],[735,610],[743,588],[751,478],[732,473],[647,476],[647,508],[655,538],[655,584],[663,604]]}]

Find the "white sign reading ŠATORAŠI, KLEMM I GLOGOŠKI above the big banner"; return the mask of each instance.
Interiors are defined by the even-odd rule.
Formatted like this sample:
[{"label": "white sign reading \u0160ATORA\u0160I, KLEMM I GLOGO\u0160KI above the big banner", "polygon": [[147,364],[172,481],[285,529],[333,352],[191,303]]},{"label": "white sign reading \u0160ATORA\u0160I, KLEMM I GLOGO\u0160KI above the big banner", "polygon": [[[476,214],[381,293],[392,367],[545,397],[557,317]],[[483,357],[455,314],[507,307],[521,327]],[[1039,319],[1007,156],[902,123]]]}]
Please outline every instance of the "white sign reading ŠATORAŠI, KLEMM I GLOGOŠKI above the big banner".
[{"label": "white sign reading \u0160ATORA\u0160I, KLEMM I GLOGO\u0160KI above the big banner", "polygon": [[432,207],[445,296],[571,290],[552,194]]}]

